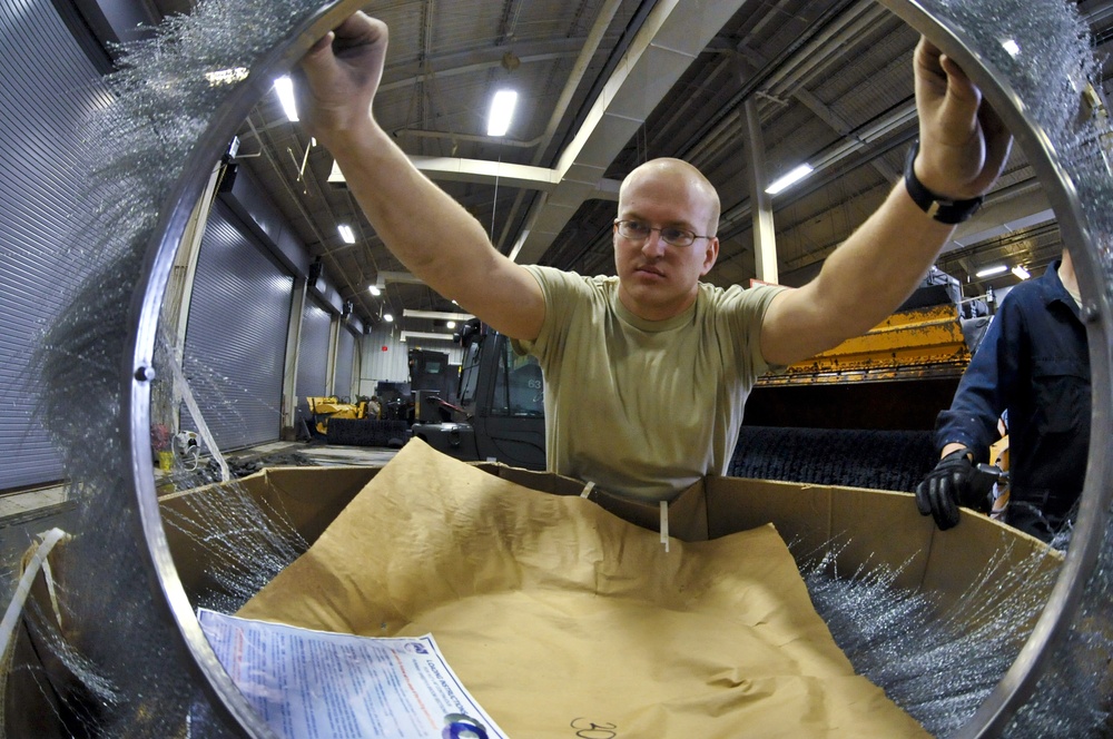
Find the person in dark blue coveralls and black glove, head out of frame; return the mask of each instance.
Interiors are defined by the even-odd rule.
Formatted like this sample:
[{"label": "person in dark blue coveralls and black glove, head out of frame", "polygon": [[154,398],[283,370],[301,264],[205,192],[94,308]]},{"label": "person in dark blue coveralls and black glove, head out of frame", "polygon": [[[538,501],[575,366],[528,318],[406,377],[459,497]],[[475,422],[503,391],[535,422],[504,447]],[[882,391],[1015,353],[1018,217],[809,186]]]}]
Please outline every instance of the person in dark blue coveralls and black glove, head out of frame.
[{"label": "person in dark blue coveralls and black glove, head out of frame", "polygon": [[1071,255],[1002,300],[951,408],[936,420],[940,460],[916,489],[940,530],[958,505],[988,510],[973,465],[986,461],[1007,411],[1009,499],[1005,522],[1044,541],[1071,521],[1090,444],[1090,358]]}]

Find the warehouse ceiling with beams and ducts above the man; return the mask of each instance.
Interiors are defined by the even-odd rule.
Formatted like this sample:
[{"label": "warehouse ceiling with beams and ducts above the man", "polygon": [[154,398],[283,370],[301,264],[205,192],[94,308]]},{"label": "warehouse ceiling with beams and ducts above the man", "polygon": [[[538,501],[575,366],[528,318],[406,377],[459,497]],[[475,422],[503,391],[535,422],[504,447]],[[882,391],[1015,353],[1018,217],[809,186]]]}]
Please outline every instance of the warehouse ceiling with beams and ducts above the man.
[{"label": "warehouse ceiling with beams and ducts above the man", "polygon": [[[186,12],[181,0],[154,0]],[[1080,3],[1099,56],[1109,0]],[[676,6],[669,12],[668,9]],[[883,200],[916,132],[917,35],[870,1],[412,0],[368,3],[391,46],[374,111],[402,149],[471,211],[504,254],[581,274],[613,274],[617,185],[652,157],[696,164],[719,189],[721,250],[709,282],[757,277],[751,151],[764,181],[808,161],[817,170],[774,197],[779,280],[798,285]],[[713,9],[709,9],[713,7]],[[1103,92],[1107,80],[1101,80]],[[492,95],[519,92],[510,132],[485,135]],[[747,109],[760,121],[748,134]],[[329,282],[366,324],[405,308],[453,311],[408,277],[342,183],[333,159],[266,96],[244,122],[249,167]],[[937,266],[966,297],[1017,282],[974,273],[1023,265],[1034,275],[1062,249],[1041,184],[1014,147],[986,206]],[[355,244],[337,226],[351,225]],[[381,286],[382,295],[368,290]],[[402,325],[401,327],[413,327]]]}]

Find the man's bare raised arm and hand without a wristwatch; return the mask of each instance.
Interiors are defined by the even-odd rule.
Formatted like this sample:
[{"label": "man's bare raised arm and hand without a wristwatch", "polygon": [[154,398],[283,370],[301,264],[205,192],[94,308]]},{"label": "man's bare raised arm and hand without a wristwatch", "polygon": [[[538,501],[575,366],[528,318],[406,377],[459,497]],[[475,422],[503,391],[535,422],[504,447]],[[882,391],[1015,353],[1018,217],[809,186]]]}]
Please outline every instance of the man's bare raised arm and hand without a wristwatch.
[{"label": "man's bare raised arm and hand without a wristwatch", "polygon": [[387,29],[353,13],[305,55],[299,107],[336,158],[375,233],[416,277],[496,329],[534,338],[544,296],[480,223],[422,175],[371,116]]}]

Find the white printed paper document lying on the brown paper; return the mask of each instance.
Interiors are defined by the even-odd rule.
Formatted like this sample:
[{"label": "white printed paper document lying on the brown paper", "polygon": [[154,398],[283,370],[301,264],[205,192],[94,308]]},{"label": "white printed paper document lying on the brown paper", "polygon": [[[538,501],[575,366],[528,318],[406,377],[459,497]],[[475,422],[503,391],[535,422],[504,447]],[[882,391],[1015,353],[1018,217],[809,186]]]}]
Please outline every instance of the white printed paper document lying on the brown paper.
[{"label": "white printed paper document lying on the brown paper", "polygon": [[372,638],[197,614],[220,664],[286,739],[506,739],[431,634]]}]

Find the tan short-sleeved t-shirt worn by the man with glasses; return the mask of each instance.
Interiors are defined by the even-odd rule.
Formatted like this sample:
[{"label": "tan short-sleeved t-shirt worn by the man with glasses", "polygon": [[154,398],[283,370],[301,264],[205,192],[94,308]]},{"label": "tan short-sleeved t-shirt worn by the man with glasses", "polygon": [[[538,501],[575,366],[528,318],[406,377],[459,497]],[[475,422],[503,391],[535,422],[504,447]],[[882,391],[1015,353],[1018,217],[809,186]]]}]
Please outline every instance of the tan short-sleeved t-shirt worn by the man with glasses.
[{"label": "tan short-sleeved t-shirt worn by the man with glasses", "polygon": [[782,288],[701,283],[688,311],[654,322],[626,309],[617,277],[526,268],[545,322],[515,348],[544,372],[549,469],[647,501],[726,474],[746,397],[768,368],[761,318]]}]

